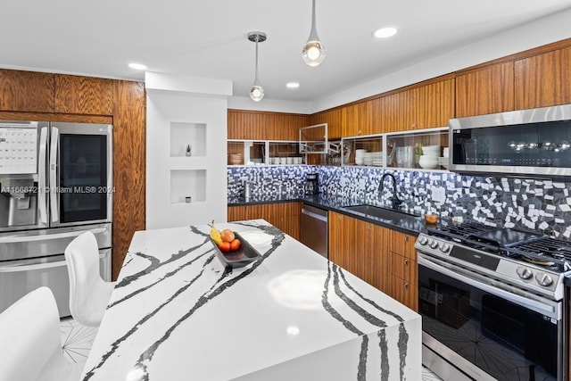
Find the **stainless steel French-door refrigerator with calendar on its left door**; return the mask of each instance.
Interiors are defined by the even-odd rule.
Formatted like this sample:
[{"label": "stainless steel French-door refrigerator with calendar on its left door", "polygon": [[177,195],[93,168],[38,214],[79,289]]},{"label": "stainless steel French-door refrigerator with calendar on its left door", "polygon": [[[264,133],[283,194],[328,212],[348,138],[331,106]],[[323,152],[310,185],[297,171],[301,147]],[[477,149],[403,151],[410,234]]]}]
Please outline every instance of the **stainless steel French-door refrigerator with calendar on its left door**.
[{"label": "stainless steel French-door refrigerator with calendar on its left door", "polygon": [[48,286],[70,315],[63,251],[86,230],[111,279],[112,126],[0,121],[0,312]]}]

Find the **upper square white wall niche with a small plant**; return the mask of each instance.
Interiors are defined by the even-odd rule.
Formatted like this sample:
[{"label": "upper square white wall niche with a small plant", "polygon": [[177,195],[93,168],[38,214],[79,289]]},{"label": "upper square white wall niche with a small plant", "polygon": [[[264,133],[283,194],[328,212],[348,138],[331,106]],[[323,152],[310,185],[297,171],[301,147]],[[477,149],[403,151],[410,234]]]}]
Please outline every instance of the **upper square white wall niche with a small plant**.
[{"label": "upper square white wall niche with a small plant", "polygon": [[206,124],[170,122],[170,157],[186,157],[190,145],[191,156],[206,156]]}]

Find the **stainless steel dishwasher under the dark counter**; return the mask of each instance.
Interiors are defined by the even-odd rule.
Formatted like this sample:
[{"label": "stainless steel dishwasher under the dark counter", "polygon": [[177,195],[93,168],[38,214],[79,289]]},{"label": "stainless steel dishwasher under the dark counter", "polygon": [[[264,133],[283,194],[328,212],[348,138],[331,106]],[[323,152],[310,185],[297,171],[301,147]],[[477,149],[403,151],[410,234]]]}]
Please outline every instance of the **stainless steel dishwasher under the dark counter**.
[{"label": "stainless steel dishwasher under the dark counter", "polygon": [[326,210],[303,204],[302,244],[328,258]]}]

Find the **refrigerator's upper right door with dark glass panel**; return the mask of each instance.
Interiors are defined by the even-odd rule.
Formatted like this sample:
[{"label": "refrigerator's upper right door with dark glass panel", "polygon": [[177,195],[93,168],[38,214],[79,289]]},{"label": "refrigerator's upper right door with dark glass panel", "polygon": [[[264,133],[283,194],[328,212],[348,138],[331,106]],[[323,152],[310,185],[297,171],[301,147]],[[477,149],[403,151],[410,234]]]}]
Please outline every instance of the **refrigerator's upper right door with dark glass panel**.
[{"label": "refrigerator's upper right door with dark glass panel", "polygon": [[52,123],[52,226],[111,222],[112,173],[112,125]]}]

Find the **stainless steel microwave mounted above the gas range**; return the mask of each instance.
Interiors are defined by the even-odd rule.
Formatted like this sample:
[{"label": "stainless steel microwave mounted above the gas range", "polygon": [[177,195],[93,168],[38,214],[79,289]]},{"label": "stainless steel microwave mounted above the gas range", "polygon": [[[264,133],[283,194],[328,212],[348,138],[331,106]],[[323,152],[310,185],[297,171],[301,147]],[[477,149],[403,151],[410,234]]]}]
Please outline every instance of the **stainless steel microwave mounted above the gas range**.
[{"label": "stainless steel microwave mounted above the gas range", "polygon": [[455,172],[571,176],[571,104],[450,120]]}]

